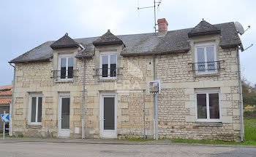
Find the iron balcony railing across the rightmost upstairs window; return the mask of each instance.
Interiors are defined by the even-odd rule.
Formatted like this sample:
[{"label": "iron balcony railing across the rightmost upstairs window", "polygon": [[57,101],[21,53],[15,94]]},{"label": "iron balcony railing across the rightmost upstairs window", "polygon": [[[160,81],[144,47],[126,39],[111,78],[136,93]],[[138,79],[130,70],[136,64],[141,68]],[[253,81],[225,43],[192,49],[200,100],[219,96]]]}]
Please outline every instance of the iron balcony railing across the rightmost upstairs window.
[{"label": "iron balcony railing across the rightmost upstairs window", "polygon": [[213,61],[213,62],[204,62],[204,63],[189,63],[192,65],[192,71],[195,72],[196,75],[207,75],[207,74],[217,74],[219,70],[224,70],[221,67],[221,63],[224,60]]}]

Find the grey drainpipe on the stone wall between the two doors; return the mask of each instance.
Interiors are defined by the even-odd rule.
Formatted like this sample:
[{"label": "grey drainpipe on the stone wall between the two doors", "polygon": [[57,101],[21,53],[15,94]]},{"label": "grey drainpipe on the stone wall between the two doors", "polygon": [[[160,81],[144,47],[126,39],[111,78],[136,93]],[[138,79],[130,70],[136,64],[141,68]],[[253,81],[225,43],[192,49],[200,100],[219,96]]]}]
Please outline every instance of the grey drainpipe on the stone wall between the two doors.
[{"label": "grey drainpipe on the stone wall between the two doors", "polygon": [[83,115],[82,115],[82,138],[85,138],[85,114],[86,114],[86,60],[83,58]]}]

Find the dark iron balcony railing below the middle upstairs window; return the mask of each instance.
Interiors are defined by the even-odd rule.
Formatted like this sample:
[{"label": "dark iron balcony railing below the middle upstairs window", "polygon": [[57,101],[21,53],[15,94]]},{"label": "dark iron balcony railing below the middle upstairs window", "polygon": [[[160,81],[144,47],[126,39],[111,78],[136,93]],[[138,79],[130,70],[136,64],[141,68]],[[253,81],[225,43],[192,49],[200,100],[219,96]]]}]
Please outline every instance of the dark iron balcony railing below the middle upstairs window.
[{"label": "dark iron balcony railing below the middle upstairs window", "polygon": [[113,78],[121,75],[121,68],[97,68],[96,76],[101,78]]}]

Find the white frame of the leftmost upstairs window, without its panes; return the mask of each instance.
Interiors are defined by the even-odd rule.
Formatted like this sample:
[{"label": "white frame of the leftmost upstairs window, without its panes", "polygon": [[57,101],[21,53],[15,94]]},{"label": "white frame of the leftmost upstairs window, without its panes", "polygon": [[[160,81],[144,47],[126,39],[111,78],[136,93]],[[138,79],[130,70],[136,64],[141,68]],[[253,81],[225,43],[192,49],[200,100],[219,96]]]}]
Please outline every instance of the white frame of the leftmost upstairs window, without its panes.
[{"label": "white frame of the leftmost upstairs window, without its panes", "polygon": [[[73,77],[72,78],[68,78],[68,73],[67,73],[67,70],[68,70],[68,67],[69,67],[69,57],[72,57],[73,58]],[[61,76],[58,77],[58,80],[59,81],[71,81],[74,79],[74,63],[75,63],[75,57],[73,55],[70,55],[70,54],[64,54],[64,55],[59,55],[59,68],[58,68],[58,71],[61,75],[61,58],[66,58],[66,78],[65,79],[61,79]]]}]

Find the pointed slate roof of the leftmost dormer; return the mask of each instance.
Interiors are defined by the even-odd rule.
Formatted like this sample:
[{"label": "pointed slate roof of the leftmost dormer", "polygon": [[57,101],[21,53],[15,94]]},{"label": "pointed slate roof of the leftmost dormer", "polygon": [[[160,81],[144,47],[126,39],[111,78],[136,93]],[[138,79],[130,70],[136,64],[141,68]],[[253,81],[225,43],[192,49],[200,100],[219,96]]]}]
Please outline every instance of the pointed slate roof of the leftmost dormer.
[{"label": "pointed slate roof of the leftmost dormer", "polygon": [[68,36],[66,33],[61,39],[55,41],[53,44],[50,45],[52,49],[58,48],[67,48],[67,47],[79,47],[79,44],[75,42],[72,38]]}]

